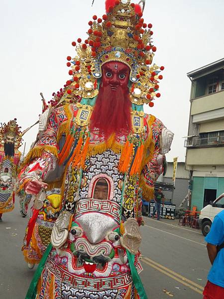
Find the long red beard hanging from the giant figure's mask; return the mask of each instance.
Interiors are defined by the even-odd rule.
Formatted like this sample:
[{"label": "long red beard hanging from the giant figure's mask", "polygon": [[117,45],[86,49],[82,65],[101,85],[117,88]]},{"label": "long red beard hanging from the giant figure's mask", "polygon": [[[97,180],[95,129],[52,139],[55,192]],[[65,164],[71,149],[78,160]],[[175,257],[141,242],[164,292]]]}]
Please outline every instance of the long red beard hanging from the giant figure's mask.
[{"label": "long red beard hanging from the giant figure's mask", "polygon": [[117,86],[101,87],[90,122],[90,131],[99,129],[107,140],[113,133],[127,136],[131,132],[129,91]]}]

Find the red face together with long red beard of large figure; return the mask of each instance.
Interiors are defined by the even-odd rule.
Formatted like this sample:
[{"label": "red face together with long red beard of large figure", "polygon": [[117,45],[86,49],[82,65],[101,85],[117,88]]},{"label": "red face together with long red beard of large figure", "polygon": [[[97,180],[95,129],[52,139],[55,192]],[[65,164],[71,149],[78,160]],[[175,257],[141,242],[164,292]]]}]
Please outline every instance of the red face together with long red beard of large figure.
[{"label": "red face together with long red beard of large figure", "polygon": [[103,76],[90,123],[90,131],[99,129],[108,139],[113,133],[131,132],[131,102],[128,80],[130,69],[122,62],[108,62],[102,67]]}]

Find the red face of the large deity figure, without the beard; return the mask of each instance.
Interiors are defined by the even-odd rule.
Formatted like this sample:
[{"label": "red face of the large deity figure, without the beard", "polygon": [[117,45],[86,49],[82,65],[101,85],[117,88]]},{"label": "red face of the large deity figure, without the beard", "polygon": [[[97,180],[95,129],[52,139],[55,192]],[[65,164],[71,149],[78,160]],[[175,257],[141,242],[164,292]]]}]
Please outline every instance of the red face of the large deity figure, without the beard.
[{"label": "red face of the large deity figure, without the beard", "polygon": [[123,90],[127,90],[130,69],[129,67],[117,61],[107,62],[102,67],[102,86],[111,86],[112,91],[115,91],[117,86],[120,86]]}]

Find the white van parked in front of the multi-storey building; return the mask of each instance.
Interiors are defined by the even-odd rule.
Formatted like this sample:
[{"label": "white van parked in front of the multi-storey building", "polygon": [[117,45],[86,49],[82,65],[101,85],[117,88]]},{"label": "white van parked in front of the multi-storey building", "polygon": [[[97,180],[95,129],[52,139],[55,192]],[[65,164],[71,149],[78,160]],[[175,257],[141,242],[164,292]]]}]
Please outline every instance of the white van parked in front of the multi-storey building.
[{"label": "white van parked in front of the multi-storey building", "polygon": [[214,217],[224,209],[224,193],[201,210],[198,223],[204,236],[210,232]]}]

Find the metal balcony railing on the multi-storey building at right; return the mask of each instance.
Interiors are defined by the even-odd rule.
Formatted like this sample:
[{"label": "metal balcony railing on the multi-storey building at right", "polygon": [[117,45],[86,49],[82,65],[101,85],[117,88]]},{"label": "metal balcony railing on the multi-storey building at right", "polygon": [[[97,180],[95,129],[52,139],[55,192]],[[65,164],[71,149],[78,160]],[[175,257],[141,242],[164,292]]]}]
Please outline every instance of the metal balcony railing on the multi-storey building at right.
[{"label": "metal balcony railing on the multi-storey building at right", "polygon": [[185,148],[214,147],[220,145],[224,146],[224,136],[207,137],[207,138],[200,138],[199,136],[189,137],[185,139],[185,143],[184,143]]}]

